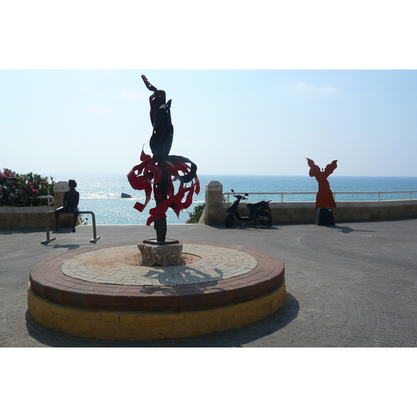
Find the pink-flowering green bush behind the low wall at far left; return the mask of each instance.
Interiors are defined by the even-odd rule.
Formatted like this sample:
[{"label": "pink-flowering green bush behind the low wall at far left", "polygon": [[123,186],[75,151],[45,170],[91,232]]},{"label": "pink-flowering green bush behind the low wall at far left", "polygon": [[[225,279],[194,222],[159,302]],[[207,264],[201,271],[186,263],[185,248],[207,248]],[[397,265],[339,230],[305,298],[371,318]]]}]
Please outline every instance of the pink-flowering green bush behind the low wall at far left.
[{"label": "pink-flowering green bush behind the low wall at far left", "polygon": [[[46,206],[47,199],[36,199],[35,197],[39,197],[40,195],[54,195],[55,181],[53,177],[42,177],[39,174],[33,174],[33,172],[17,174],[15,171],[3,168],[3,170],[0,170],[1,188],[6,184],[9,177],[16,177],[14,181],[8,182],[9,185],[24,188],[28,193],[29,198],[25,206]],[[0,206],[6,204],[6,200],[0,199]]]}]

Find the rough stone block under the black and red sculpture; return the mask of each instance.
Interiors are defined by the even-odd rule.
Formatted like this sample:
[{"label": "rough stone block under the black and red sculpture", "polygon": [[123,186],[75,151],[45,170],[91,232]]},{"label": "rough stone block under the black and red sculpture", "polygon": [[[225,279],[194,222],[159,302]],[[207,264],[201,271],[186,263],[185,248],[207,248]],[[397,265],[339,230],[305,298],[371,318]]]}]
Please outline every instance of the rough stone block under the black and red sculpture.
[{"label": "rough stone block under the black and red sculpture", "polygon": [[170,245],[149,245],[138,243],[142,254],[143,266],[177,266],[181,265],[182,243]]}]

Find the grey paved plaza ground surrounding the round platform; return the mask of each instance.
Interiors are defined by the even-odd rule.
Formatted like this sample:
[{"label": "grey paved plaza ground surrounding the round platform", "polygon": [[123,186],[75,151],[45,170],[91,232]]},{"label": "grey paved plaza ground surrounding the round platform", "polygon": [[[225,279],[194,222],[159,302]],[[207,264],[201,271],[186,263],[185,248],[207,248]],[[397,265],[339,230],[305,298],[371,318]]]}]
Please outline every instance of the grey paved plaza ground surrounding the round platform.
[{"label": "grey paved plaza ground surrounding the round platform", "polygon": [[250,325],[195,338],[99,341],[42,327],[27,312],[29,272],[56,254],[154,238],[146,226],[0,229],[0,347],[414,347],[417,344],[417,219],[268,227],[168,226],[168,238],[268,252],[284,261],[287,299]]}]

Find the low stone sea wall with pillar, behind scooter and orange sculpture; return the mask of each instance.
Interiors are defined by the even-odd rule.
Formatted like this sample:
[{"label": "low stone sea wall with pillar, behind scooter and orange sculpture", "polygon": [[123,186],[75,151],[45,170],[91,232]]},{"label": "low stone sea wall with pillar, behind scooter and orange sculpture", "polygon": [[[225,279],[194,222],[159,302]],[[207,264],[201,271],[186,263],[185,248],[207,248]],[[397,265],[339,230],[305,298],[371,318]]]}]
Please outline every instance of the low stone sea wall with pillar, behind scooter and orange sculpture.
[{"label": "low stone sea wall with pillar, behind scooter and orange sculpture", "polygon": [[[202,219],[204,224],[223,224],[227,208],[231,203],[221,202],[219,195],[221,184],[215,181],[215,192],[211,183],[206,186],[206,207]],[[363,220],[390,220],[417,217],[417,199],[385,200],[379,202],[336,202],[333,208],[335,222],[359,222]],[[247,208],[239,204],[240,213],[245,215]],[[270,202],[272,224],[277,223],[313,223],[316,213],[315,202]],[[236,224],[245,223],[235,220]],[[247,223],[247,222],[246,222]]]}]

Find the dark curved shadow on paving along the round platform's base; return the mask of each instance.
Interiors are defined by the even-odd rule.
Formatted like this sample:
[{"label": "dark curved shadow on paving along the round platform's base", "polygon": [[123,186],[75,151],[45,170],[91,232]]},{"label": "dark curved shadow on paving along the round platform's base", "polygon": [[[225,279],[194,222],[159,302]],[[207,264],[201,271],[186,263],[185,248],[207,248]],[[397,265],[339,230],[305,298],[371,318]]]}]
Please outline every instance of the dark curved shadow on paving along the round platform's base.
[{"label": "dark curved shadow on paving along the round platform's base", "polygon": [[300,304],[287,293],[286,302],[276,313],[238,329],[204,334],[193,338],[163,339],[160,341],[102,341],[70,336],[39,325],[26,310],[28,334],[39,343],[51,347],[243,347],[279,329],[298,316]]}]

